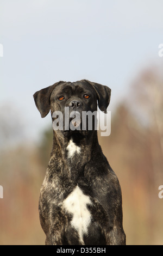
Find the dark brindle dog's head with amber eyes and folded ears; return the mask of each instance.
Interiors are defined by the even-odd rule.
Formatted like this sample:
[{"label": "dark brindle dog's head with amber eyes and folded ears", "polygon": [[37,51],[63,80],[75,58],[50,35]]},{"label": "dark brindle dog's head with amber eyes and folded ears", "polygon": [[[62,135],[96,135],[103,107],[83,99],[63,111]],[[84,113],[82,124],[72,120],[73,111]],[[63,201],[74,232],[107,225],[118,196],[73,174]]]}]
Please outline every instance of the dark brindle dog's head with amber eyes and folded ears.
[{"label": "dark brindle dog's head with amber eyes and folded ears", "polygon": [[[51,109],[53,120],[56,118],[53,113],[61,112],[62,119],[65,122],[65,107],[67,107],[69,114],[68,124],[72,121],[74,126],[78,126],[82,123],[83,112],[97,111],[97,101],[99,109],[106,113],[106,108],[110,102],[110,94],[111,89],[109,87],[88,80],[74,83],[60,81],[36,92],[34,100],[42,118],[46,117]],[[76,113],[80,115],[80,120],[76,119],[73,122],[72,117],[76,117]],[[64,132],[65,128],[62,130]]]}]

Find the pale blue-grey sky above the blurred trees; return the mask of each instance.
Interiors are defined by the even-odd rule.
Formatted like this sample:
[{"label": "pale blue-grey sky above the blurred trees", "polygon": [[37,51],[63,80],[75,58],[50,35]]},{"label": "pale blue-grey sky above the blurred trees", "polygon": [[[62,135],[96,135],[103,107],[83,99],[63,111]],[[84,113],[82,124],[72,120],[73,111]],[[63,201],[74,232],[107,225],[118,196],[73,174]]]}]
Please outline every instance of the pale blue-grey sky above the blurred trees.
[{"label": "pale blue-grey sky above the blurred trees", "polygon": [[162,0],[0,0],[0,127],[39,140],[51,117],[33,94],[60,80],[109,86],[114,113],[139,72],[162,62],[162,10]]}]

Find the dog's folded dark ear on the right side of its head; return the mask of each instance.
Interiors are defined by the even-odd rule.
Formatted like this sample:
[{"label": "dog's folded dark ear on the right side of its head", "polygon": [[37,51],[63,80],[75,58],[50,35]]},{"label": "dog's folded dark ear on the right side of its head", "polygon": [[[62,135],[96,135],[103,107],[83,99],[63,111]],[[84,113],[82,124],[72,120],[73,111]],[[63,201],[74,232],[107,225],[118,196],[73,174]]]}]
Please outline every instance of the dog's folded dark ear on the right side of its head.
[{"label": "dog's folded dark ear on the right side of its head", "polygon": [[111,89],[108,86],[102,86],[102,84],[94,83],[86,80],[90,83],[96,91],[98,107],[104,113],[107,113],[106,109],[110,102]]}]

